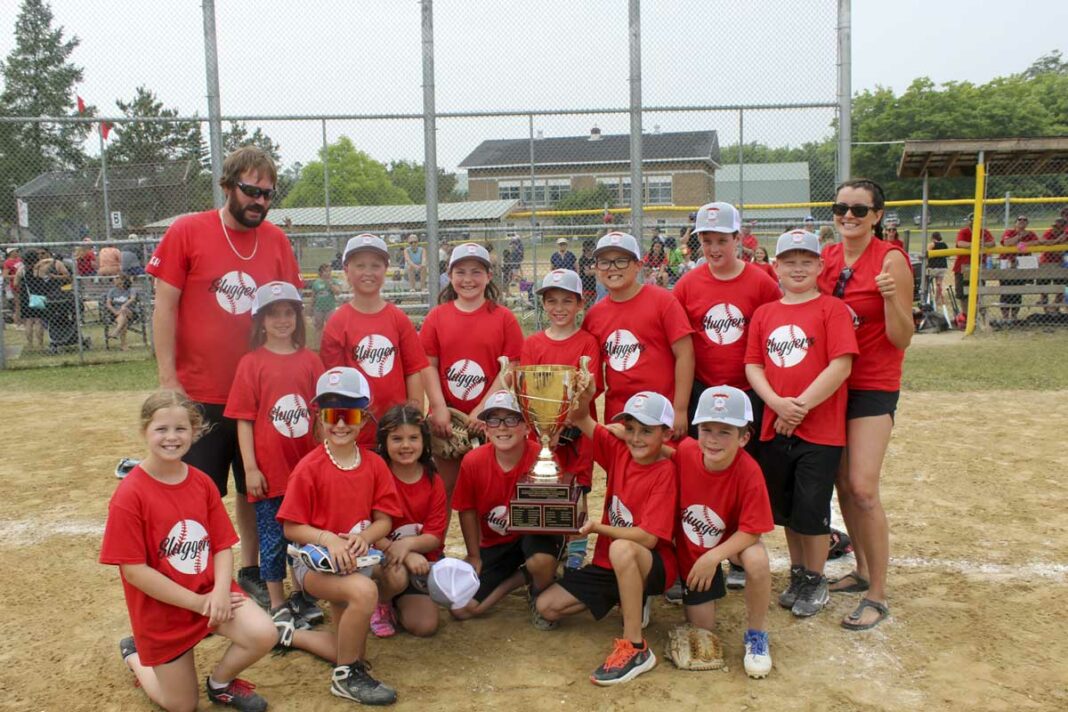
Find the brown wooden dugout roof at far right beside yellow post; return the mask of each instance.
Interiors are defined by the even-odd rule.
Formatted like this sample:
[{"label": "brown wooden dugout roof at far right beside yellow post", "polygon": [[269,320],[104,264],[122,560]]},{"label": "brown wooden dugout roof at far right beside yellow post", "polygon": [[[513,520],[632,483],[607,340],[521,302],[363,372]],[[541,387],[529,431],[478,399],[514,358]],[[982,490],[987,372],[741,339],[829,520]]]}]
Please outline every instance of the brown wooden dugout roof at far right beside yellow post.
[{"label": "brown wooden dugout roof at far right beside yellow post", "polygon": [[900,178],[974,176],[979,152],[988,175],[1068,172],[1068,137],[1035,139],[934,139],[905,142]]}]

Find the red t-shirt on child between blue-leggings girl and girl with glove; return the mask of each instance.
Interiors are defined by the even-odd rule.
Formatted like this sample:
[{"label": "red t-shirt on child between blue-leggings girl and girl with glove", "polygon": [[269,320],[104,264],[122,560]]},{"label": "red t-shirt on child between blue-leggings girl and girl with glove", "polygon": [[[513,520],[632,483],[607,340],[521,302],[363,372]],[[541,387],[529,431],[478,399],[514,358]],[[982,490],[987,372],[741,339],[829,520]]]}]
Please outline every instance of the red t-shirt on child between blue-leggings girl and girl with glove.
[{"label": "red t-shirt on child between blue-leggings girl and girl with glove", "polygon": [[[429,365],[415,328],[396,305],[387,303],[376,314],[363,314],[342,304],[327,321],[319,344],[327,368],[360,369],[371,385],[371,412],[376,418],[408,400],[405,379]],[[357,442],[372,447],[377,426],[368,422]]]}]

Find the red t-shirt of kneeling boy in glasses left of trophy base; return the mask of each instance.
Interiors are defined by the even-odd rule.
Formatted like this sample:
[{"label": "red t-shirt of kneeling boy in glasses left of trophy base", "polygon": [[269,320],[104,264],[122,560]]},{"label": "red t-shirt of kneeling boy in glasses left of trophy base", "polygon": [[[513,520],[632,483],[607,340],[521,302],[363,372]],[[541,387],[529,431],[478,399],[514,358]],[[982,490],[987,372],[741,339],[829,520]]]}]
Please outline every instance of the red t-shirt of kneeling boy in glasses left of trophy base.
[{"label": "red t-shirt of kneeling boy in glasses left of trophy base", "polygon": [[481,549],[515,541],[518,534],[508,534],[508,502],[516,496],[516,482],[531,471],[539,446],[527,441],[527,450],[512,470],[505,472],[497,461],[491,444],[481,445],[464,456],[460,474],[453,490],[453,509],[473,509],[478,516]]}]

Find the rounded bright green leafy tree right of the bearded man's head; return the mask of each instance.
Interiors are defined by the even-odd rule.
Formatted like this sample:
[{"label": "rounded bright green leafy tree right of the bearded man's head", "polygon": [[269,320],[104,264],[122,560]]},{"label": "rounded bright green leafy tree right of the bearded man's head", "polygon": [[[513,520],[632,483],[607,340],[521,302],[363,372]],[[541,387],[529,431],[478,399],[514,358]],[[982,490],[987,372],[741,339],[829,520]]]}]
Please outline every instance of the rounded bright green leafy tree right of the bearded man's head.
[{"label": "rounded bright green leafy tree right of the bearded man's head", "polygon": [[319,160],[300,171],[300,179],[283,201],[284,207],[318,207],[326,204],[324,158],[330,165],[330,205],[410,205],[408,193],[390,181],[386,167],[357,149],[348,137],[319,151]]}]

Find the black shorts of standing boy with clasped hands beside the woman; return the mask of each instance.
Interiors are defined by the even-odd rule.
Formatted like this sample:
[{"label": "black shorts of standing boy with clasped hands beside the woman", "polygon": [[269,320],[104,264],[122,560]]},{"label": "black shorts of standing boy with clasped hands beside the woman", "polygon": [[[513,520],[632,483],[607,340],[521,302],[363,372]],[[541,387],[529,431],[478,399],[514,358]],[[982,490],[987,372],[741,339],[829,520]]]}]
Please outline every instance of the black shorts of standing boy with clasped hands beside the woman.
[{"label": "black shorts of standing boy with clasped hands beside the woman", "polygon": [[842,447],[775,433],[760,448],[760,469],[775,524],[798,534],[831,533],[831,494]]}]

